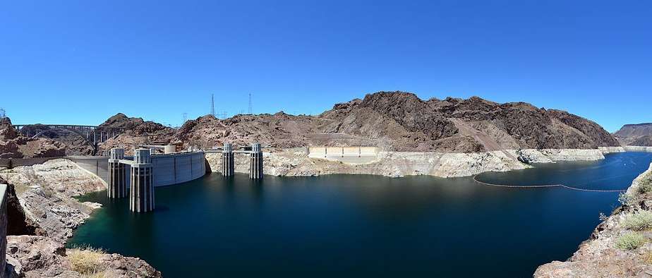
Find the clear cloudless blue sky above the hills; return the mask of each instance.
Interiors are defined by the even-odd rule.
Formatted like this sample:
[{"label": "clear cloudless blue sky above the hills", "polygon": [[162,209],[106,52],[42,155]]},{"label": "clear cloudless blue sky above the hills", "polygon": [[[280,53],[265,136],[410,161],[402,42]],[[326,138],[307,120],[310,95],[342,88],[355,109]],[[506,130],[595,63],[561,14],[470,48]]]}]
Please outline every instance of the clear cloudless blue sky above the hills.
[{"label": "clear cloudless blue sky above the hills", "polygon": [[3,1],[14,123],[318,114],[379,90],[652,121],[651,1]]}]

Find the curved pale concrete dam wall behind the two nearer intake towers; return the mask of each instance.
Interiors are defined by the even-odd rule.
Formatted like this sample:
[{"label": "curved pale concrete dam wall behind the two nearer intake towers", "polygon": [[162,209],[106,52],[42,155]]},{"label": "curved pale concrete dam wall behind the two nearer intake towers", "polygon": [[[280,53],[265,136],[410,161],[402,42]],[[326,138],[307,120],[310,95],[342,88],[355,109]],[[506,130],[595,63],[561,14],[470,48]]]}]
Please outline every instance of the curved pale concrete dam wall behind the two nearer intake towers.
[{"label": "curved pale concrete dam wall behind the two nearer intake towers", "polygon": [[[125,157],[133,159],[133,157]],[[79,167],[99,176],[102,181],[109,181],[109,157],[69,157]],[[131,167],[125,165],[126,175],[131,174]],[[154,186],[169,186],[199,179],[206,174],[204,152],[176,152],[166,155],[152,155],[152,172]],[[130,181],[126,181],[130,187]]]}]

